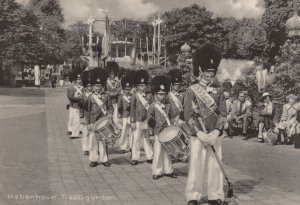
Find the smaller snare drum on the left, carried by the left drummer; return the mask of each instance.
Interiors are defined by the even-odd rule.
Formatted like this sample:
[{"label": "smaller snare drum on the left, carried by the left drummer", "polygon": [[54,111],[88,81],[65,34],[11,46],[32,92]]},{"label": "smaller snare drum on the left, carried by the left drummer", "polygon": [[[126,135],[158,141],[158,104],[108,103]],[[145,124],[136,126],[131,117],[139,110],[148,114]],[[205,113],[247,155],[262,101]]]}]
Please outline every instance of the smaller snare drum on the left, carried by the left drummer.
[{"label": "smaller snare drum on the left, carried by the left drummer", "polygon": [[111,116],[102,117],[95,122],[93,131],[96,137],[106,145],[115,144],[121,137],[121,133]]}]

